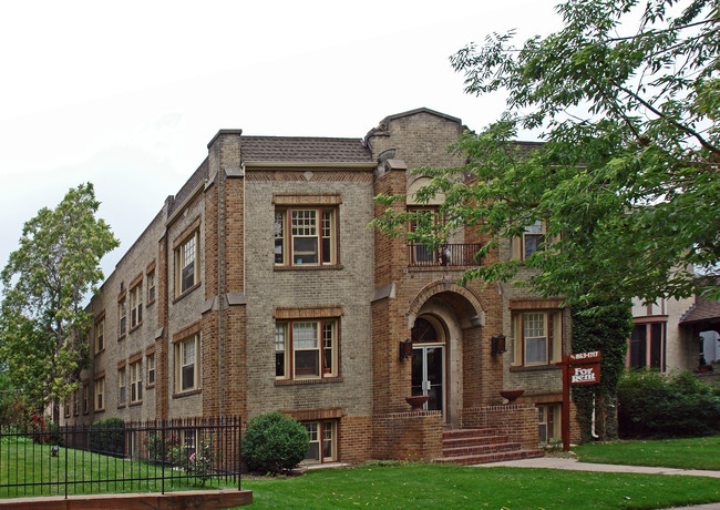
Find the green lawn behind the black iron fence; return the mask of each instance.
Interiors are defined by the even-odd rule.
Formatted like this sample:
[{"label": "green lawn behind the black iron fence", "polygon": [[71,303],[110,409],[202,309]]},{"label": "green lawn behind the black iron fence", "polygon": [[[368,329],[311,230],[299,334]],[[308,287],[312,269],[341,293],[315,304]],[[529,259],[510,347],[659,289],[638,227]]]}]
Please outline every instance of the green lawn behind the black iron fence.
[{"label": "green lawn behind the black iron fence", "polygon": [[[161,478],[165,473],[165,490],[200,488],[195,479],[178,479],[181,471],[162,468],[152,462],[128,460],[61,448],[58,457],[50,455],[50,446],[32,442],[0,445],[0,484],[43,483],[42,486],[3,487],[0,498],[64,494],[65,467],[69,494],[104,492],[160,492],[162,481],[142,480]],[[66,457],[65,457],[66,453]],[[66,462],[65,462],[66,458]],[[100,481],[116,479],[119,481]],[[74,482],[74,483],[72,483]],[[208,480],[206,489],[226,487]],[[235,486],[237,487],[237,486]]]}]

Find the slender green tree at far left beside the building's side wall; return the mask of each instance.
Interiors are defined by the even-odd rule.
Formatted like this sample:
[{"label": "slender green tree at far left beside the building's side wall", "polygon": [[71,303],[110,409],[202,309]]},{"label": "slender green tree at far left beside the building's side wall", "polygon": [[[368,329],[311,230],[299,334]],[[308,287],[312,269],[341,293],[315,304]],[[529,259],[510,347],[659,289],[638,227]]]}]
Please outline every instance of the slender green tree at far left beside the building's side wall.
[{"label": "slender green tree at far left beside the building's side wall", "polygon": [[64,401],[85,366],[92,315],[83,299],[103,279],[100,259],[119,245],[93,185],[71,188],[24,224],[0,274],[0,358],[14,388],[37,405]]}]

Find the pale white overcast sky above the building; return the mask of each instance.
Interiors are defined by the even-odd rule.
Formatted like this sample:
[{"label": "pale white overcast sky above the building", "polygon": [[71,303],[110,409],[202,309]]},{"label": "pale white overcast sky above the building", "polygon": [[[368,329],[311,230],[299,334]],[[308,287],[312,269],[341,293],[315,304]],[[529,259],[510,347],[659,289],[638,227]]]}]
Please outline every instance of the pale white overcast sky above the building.
[{"label": "pale white overcast sky above the building", "polygon": [[24,222],[92,182],[121,241],[109,276],[220,129],[362,137],[424,106],[480,130],[503,98],[465,94],[449,57],[493,31],[555,31],[556,3],[2,2],[0,267]]}]

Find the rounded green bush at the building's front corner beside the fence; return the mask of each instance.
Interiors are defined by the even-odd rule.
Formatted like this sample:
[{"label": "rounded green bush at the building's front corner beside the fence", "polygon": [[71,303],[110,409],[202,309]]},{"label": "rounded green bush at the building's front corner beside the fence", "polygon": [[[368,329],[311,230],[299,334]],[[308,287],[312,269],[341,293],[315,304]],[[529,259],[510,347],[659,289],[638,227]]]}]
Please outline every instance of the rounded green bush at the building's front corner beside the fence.
[{"label": "rounded green bush at the building's front corner beside the fence", "polygon": [[243,440],[243,458],[251,471],[280,473],[300,463],[309,446],[305,427],[275,411],[249,421]]}]

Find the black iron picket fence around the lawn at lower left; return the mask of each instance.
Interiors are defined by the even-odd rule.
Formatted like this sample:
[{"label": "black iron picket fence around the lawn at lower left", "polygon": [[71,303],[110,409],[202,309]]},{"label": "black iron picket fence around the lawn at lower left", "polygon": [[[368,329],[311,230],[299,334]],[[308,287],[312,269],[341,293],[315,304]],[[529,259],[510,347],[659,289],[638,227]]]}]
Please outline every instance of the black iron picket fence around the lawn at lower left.
[{"label": "black iron picket fence around the lawn at lower left", "polygon": [[0,497],[240,489],[240,418],[0,430]]}]

